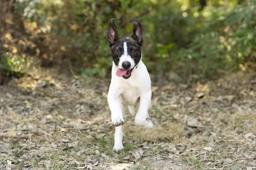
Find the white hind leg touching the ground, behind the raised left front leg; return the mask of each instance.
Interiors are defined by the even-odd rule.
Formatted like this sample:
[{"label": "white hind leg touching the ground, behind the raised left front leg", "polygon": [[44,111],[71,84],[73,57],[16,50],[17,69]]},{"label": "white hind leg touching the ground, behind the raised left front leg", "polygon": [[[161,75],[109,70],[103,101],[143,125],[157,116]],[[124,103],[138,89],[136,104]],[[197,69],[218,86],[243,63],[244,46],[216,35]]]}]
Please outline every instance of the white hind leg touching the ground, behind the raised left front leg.
[{"label": "white hind leg touching the ground, behind the raised left front leg", "polygon": [[[122,115],[124,117],[127,105],[123,104],[122,101],[120,101],[120,106],[122,110]],[[122,136],[123,136],[123,132],[122,132],[122,125],[121,125],[119,127],[116,127],[116,130],[115,130],[115,144],[114,144],[113,150],[118,151],[118,150],[124,149],[124,146],[122,144]]]}]

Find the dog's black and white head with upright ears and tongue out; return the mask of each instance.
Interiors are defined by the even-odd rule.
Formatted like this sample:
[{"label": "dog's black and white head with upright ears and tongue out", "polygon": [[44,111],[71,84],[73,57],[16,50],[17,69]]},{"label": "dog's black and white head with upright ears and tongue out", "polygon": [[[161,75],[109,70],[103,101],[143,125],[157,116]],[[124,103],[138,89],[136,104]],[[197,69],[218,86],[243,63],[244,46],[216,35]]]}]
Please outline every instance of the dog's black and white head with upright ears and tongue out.
[{"label": "dog's black and white head with upright ears and tongue out", "polygon": [[133,33],[131,37],[127,38],[119,37],[114,19],[110,20],[108,24],[108,45],[117,67],[117,76],[131,77],[131,72],[141,59],[142,43],[142,26],[139,20],[134,19]]}]

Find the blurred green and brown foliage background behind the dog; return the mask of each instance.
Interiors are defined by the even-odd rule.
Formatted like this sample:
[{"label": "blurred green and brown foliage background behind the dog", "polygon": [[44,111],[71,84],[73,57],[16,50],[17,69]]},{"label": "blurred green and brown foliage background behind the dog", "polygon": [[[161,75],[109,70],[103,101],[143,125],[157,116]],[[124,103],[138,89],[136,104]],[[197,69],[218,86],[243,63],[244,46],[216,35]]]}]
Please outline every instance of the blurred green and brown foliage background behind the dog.
[{"label": "blurred green and brown foliage background behind the dog", "polygon": [[143,62],[175,81],[256,69],[255,0],[0,0],[0,81],[39,69],[110,78],[107,26],[143,25]]}]

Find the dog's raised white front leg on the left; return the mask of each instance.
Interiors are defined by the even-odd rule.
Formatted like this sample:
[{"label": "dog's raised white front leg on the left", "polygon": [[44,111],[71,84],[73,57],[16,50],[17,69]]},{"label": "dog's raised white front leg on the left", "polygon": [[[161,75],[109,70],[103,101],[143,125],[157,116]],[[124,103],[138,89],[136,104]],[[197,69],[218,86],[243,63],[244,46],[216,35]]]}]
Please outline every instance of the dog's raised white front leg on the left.
[{"label": "dog's raised white front leg on the left", "polygon": [[120,126],[125,123],[119,102],[119,92],[110,87],[108,92],[108,106],[111,111],[111,121],[113,126]]}]

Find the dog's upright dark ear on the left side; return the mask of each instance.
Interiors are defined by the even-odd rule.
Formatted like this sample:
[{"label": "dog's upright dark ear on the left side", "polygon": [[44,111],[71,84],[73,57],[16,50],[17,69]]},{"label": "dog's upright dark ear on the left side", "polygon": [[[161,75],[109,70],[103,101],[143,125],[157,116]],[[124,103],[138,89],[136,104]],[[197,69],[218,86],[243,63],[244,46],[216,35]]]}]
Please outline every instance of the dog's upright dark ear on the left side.
[{"label": "dog's upright dark ear on the left side", "polygon": [[116,24],[114,18],[112,18],[108,23],[108,45],[113,46],[116,41],[119,39],[119,35],[117,33]]}]

